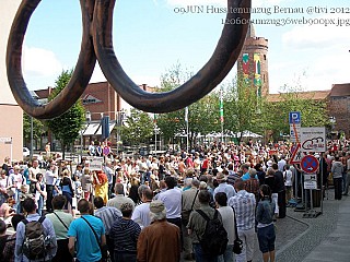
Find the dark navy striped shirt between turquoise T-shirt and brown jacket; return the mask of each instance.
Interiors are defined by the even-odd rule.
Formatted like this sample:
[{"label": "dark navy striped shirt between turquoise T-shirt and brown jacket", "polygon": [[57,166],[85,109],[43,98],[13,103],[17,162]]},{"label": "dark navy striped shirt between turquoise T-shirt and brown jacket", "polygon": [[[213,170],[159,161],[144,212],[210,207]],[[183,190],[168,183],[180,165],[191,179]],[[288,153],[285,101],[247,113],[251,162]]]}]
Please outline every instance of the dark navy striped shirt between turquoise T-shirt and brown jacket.
[{"label": "dark navy striped shirt between turquoise T-shirt and brown jacket", "polygon": [[141,227],[132,219],[118,217],[109,231],[115,252],[137,252]]}]

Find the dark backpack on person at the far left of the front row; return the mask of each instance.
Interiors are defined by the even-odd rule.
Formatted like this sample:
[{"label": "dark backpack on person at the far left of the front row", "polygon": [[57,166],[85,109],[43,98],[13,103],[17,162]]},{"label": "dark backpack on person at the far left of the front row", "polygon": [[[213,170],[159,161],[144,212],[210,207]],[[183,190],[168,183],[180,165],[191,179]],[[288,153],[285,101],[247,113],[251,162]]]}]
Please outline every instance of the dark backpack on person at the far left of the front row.
[{"label": "dark backpack on person at the far left of the front row", "polygon": [[38,260],[46,257],[48,245],[43,222],[45,216],[38,221],[28,222],[23,219],[25,227],[22,252],[28,260]]}]

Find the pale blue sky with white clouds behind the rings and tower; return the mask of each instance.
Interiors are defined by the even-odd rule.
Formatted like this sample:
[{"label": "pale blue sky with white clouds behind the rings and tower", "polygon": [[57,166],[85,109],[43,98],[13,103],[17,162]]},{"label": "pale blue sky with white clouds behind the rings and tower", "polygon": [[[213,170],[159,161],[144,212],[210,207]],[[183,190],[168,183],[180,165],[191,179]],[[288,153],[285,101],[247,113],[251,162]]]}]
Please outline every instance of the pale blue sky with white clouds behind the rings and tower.
[{"label": "pale blue sky with white clouds behind the rings and tower", "polygon": [[[211,57],[225,17],[210,10],[224,7],[225,0],[117,0],[113,41],[124,70],[136,84],[150,86],[160,86],[161,76],[176,64],[197,72]],[[318,91],[349,83],[348,0],[253,0],[253,8],[256,36],[269,43],[270,93],[285,85]],[[183,12],[187,10],[197,11]],[[282,25],[282,20],[289,24]],[[295,24],[301,20],[305,24]],[[62,70],[74,67],[81,31],[78,0],[39,3],[23,46],[23,74],[30,90],[54,86]],[[235,74],[234,67],[223,82]],[[96,64],[90,82],[102,81],[106,79]]]}]

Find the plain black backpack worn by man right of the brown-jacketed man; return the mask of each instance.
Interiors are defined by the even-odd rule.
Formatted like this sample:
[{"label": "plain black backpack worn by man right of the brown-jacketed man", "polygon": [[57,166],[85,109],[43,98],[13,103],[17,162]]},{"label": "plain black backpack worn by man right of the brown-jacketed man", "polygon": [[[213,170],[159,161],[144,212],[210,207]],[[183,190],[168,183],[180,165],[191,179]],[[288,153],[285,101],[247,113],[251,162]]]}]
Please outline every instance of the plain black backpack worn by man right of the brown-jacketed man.
[{"label": "plain black backpack worn by man right of the brown-jacketed man", "polygon": [[218,218],[218,211],[215,210],[212,219],[201,210],[196,210],[206,221],[206,230],[201,239],[198,239],[202,249],[202,252],[211,255],[223,254],[228,247],[228,233],[222,225],[222,222]]}]

